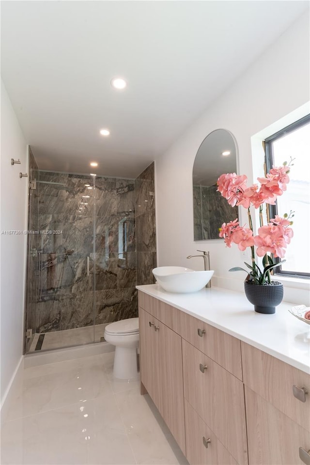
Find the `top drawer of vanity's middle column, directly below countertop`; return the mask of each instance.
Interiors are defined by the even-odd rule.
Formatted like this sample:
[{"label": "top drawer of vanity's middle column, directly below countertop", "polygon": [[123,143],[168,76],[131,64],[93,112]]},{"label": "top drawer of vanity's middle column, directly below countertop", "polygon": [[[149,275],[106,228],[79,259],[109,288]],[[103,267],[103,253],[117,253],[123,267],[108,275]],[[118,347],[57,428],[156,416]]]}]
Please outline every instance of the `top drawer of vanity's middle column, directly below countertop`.
[{"label": "top drawer of vanity's middle column, directly below countertop", "polygon": [[242,381],[240,340],[181,312],[181,336]]}]

